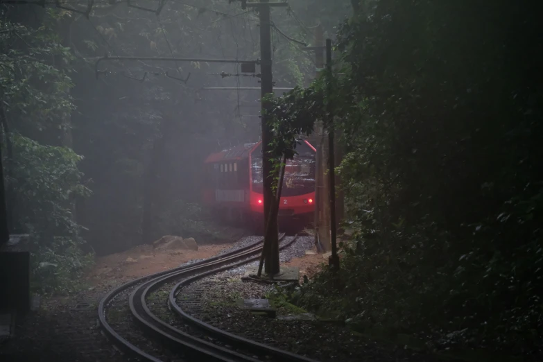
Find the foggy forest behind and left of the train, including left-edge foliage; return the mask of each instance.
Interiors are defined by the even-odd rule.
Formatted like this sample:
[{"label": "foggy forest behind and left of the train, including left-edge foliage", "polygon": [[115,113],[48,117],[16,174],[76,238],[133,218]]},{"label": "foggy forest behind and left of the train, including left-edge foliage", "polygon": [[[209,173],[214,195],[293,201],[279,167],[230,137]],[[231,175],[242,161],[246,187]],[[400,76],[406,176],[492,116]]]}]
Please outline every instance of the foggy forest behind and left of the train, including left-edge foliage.
[{"label": "foggy forest behind and left of the train, including left-edge foliage", "polygon": [[[320,5],[292,1],[273,11],[274,25],[307,41],[321,12],[334,12],[322,21],[331,31],[349,10],[347,0]],[[69,7],[85,11],[87,2]],[[102,62],[96,79],[94,62],[104,54],[255,60],[255,11],[167,1],[157,16],[115,1],[94,3],[87,19],[54,4],[3,3],[0,18],[10,232],[31,233],[35,288],[73,290],[94,250],[120,252],[164,234],[223,237],[197,205],[195,176],[209,153],[258,138],[258,119],[243,114],[260,105],[249,92],[201,87],[255,87],[257,78],[218,76],[239,74],[238,64],[149,61]],[[275,28],[273,53],[278,86],[309,83],[311,58]]]}]

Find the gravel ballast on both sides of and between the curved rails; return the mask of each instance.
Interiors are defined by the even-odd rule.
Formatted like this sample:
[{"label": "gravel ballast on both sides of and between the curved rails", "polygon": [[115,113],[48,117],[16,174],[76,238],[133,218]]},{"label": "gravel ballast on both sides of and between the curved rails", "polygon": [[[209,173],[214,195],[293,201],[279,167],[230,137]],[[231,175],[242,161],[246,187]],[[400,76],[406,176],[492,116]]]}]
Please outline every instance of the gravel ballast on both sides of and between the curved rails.
[{"label": "gravel ballast on both sides of and between the curved rails", "polygon": [[[293,236],[285,236],[280,245],[286,245]],[[258,236],[248,236],[221,254],[243,248],[259,241]],[[311,236],[299,236],[295,242],[282,250],[280,260],[288,262],[296,257],[303,257],[305,251],[313,248]],[[197,260],[187,264],[193,264]],[[268,293],[275,290],[270,284],[242,282],[248,266],[254,267],[258,261],[245,264],[223,273],[199,279],[190,284],[178,294],[178,303],[182,308],[215,327],[225,329],[233,334],[250,338],[260,343],[280,348],[296,354],[307,356],[317,361],[385,361],[411,362],[431,361],[426,356],[417,356],[403,349],[380,345],[357,336],[341,325],[334,325],[313,320],[284,320],[284,316],[299,316],[300,311],[293,307],[279,307],[277,318],[269,318],[251,313],[240,307],[243,298],[266,298]],[[121,282],[121,281],[117,281]],[[123,281],[125,282],[125,281]],[[162,301],[168,294],[170,284],[157,291],[156,301],[149,300],[150,309],[183,331],[194,334],[199,338],[251,355],[252,352],[238,350],[235,345],[226,341],[217,341],[200,330],[186,325],[185,321],[171,313]],[[17,336],[0,346],[2,361],[130,361],[129,356],[119,353],[112,347],[110,341],[101,333],[98,326],[96,307],[110,287],[96,288],[86,291],[78,297],[68,298],[67,302],[47,302],[39,313],[31,313],[25,320],[19,321]],[[126,306],[128,294],[126,291],[117,297],[107,310],[110,322],[125,338],[145,350],[153,352],[164,361],[180,361],[183,354],[172,353],[167,348],[153,341],[147,341],[146,336],[134,329],[130,320],[130,311]],[[159,293],[160,292],[160,293]],[[199,303],[187,304],[182,302],[182,296],[198,295]],[[192,307],[191,307],[192,305]],[[255,352],[256,353],[256,352]],[[253,356],[261,361],[279,361],[274,356],[259,354]]]}]

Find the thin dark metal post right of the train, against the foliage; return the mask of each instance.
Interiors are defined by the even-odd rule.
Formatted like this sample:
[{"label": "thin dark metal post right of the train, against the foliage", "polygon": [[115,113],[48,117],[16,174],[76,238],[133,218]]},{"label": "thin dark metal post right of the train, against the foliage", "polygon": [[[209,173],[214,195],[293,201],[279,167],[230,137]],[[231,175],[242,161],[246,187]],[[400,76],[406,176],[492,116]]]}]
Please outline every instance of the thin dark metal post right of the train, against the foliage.
[{"label": "thin dark metal post right of the train, against the foliage", "polygon": [[[328,78],[328,95],[331,94],[331,80],[332,80],[332,73],[331,73],[331,40],[326,40],[326,68],[327,68],[327,76]],[[328,147],[329,147],[329,154],[328,154],[328,164],[329,164],[329,170],[328,170],[328,176],[329,176],[329,184],[330,184],[330,192],[329,192],[329,198],[330,198],[330,241],[331,241],[331,255],[328,258],[328,265],[333,270],[339,269],[339,257],[338,257],[338,248],[336,245],[336,177],[334,175],[334,117],[331,114],[331,105],[330,105],[330,99],[328,99]]]}]

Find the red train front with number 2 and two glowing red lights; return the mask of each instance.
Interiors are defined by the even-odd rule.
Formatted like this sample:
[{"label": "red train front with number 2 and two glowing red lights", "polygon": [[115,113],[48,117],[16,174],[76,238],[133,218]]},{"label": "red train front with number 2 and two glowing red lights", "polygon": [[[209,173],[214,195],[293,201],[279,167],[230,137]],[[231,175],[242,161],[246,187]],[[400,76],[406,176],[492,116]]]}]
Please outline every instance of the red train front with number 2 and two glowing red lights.
[{"label": "red train front with number 2 and two glowing red lights", "polygon": [[[262,222],[264,216],[261,150],[259,144],[250,154],[250,209],[257,222]],[[308,141],[300,141],[296,152],[298,155],[285,166],[279,222],[288,220],[307,225],[315,209],[316,150]]]}]

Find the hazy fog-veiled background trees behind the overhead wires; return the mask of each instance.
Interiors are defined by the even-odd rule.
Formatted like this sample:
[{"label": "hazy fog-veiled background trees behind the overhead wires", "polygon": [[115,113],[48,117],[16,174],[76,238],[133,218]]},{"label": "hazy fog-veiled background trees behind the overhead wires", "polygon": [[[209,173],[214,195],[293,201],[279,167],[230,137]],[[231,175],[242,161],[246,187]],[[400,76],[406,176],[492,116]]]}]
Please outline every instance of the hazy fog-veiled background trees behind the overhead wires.
[{"label": "hazy fog-veiled background trees behind the overhead wires", "polygon": [[[314,26],[322,22],[325,31],[333,31],[349,10],[348,0],[293,0],[289,4],[293,11],[272,10],[273,24],[311,45]],[[241,10],[239,2],[229,5],[224,0],[201,0],[197,4],[168,1],[158,18],[126,3],[94,9],[90,20],[96,31],[89,30],[85,17],[74,17],[65,38],[78,58],[72,62],[76,72],[71,74],[76,84],[71,94],[78,107],[72,114],[74,148],[85,155],[81,167],[92,178],[94,191],[85,202],[85,212],[80,213],[81,222],[89,227],[87,239],[96,252],[106,253],[130,248],[141,240],[144,228],[135,225],[142,219],[141,193],[149,173],[154,173],[153,234],[191,230],[193,221],[208,222],[201,214],[201,219],[188,215],[181,220],[169,211],[176,209],[171,200],[198,202],[200,185],[193,175],[201,172],[205,157],[225,145],[256,141],[259,122],[243,117],[255,114],[247,107],[255,94],[199,89],[203,83],[207,87],[255,87],[258,83],[253,77],[211,75],[221,71],[239,74],[237,64],[205,62],[102,62],[100,69],[111,74],[96,80],[93,58],[110,53],[258,59],[259,21],[256,10]],[[319,20],[321,12],[327,18]],[[275,30],[273,62],[277,87],[302,86],[313,78],[313,55]],[[155,76],[164,71],[178,78],[186,78],[190,72],[191,77],[183,84],[164,74]],[[141,79],[145,72],[148,74],[142,83],[125,77]],[[175,127],[162,132],[161,125],[166,121],[172,121]],[[151,156],[155,146],[160,150]],[[155,169],[151,170],[151,164],[157,165]],[[185,213],[180,210],[179,215]],[[205,229],[205,225],[198,229]]]}]

